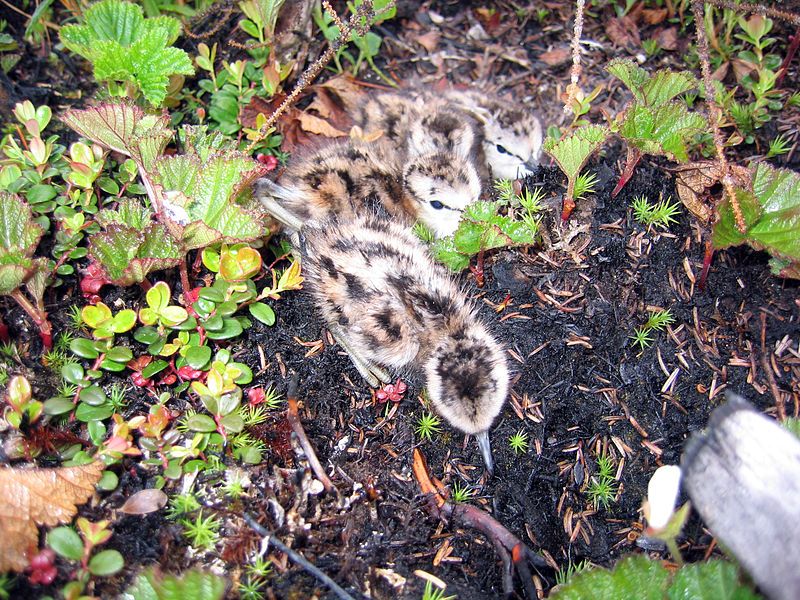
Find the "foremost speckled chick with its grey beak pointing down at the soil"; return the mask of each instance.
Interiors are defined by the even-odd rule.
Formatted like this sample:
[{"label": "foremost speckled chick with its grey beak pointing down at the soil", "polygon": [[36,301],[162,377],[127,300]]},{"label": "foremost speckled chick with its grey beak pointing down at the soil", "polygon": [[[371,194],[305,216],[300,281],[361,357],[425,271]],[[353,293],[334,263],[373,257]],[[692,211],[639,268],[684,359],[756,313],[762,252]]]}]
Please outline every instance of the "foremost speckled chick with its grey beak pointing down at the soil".
[{"label": "foremost speckled chick with its grey beak pointing down at the soil", "polygon": [[476,436],[491,471],[488,430],[508,366],[450,274],[407,228],[376,216],[309,223],[300,238],[306,289],[364,379],[389,382],[386,367],[420,375],[434,410]]}]

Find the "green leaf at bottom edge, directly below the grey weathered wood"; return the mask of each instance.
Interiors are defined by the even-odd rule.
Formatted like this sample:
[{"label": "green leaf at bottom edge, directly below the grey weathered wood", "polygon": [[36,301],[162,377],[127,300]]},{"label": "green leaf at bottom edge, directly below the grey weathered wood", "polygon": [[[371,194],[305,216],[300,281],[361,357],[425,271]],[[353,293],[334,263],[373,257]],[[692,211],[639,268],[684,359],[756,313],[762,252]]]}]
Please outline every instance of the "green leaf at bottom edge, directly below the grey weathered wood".
[{"label": "green leaf at bottom edge, directly below the grey weathered wood", "polygon": [[739,582],[739,570],[732,563],[710,560],[681,568],[667,590],[669,600],[758,600],[752,589]]}]

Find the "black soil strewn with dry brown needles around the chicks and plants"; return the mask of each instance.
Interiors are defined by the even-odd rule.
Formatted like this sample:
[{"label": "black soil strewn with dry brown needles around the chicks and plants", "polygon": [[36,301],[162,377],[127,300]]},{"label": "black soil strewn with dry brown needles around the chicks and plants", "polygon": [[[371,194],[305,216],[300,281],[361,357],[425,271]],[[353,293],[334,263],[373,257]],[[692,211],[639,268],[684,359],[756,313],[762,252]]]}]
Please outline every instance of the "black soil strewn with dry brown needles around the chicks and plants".
[{"label": "black soil strewn with dry brown needles around the chicks and plants", "polygon": [[[424,23],[433,10],[449,19],[446,37],[453,39],[475,22],[464,3],[434,2],[423,8],[408,4],[401,6],[405,19]],[[546,95],[550,100],[541,103],[542,111],[556,122],[562,117],[552,102],[552,90],[567,81],[566,67],[551,68],[536,60],[543,49],[568,42],[564,22],[553,22],[542,28],[531,21],[492,40],[507,48],[527,44],[533,69],[498,59],[476,73],[472,69],[478,63],[465,61],[467,66],[455,67],[448,75],[461,82],[477,74],[496,78],[498,85],[506,82],[509,89],[522,88],[534,98]],[[386,27],[387,35],[402,41],[410,35],[398,23]],[[589,34],[599,35],[599,28],[598,21]],[[479,43],[448,43],[465,56],[486,50]],[[613,52],[608,46],[608,55]],[[604,81],[607,75],[597,65],[607,60],[606,51],[590,48],[589,53],[587,69],[592,74],[587,77]],[[409,57],[402,45],[390,40],[381,64],[408,79],[438,75],[433,62],[414,66],[407,62]],[[53,73],[52,64],[34,72],[35,64],[35,59],[26,58],[18,75]],[[414,69],[418,70],[412,73]],[[67,64],[58,73],[66,78],[71,71]],[[796,82],[792,71],[785,87],[792,89]],[[63,84],[53,82],[56,89]],[[12,92],[25,90],[15,84]],[[613,89],[604,93],[598,104],[618,106],[622,98],[614,95]],[[297,374],[303,426],[337,493],[318,493],[312,485],[291,430],[278,414],[259,429],[269,452],[261,465],[246,469],[246,496],[233,505],[222,497],[207,499],[225,517],[224,541],[217,553],[197,557],[187,551],[180,528],[162,513],[113,516],[113,508],[132,493],[152,487],[157,475],[128,459],[118,468],[119,488],[81,509],[94,519],[114,519],[108,547],[120,550],[126,559],[123,574],[99,582],[94,593],[119,593],[149,564],[170,572],[200,565],[236,581],[245,557],[261,543],[237,516],[246,512],[356,597],[419,598],[424,580],[414,575],[417,569],[446,581],[447,593],[460,600],[501,596],[503,568],[492,544],[474,530],[430,517],[411,470],[416,446],[433,477],[449,489],[454,483],[472,486],[477,491],[474,504],[553,566],[566,567],[584,558],[608,566],[636,551],[643,528],[639,508],[650,475],[661,464],[679,462],[688,436],[705,426],[726,390],[774,412],[776,399],[762,366],[771,364],[778,389],[795,398],[795,406],[787,406],[786,412],[797,414],[800,304],[797,282],[771,276],[768,257],[746,248],[717,253],[705,289],[700,289],[708,232],[685,212],[668,232],[647,230],[631,216],[629,204],[636,196],[676,197],[673,178],[664,168],[669,165],[643,160],[612,201],[610,191],[623,157],[623,148],[609,146],[590,164],[599,178],[597,193],[579,203],[566,225],[557,222],[563,178],[554,167],[541,167],[524,183],[543,187],[553,205],[546,228],[549,241],[538,248],[488,255],[482,289],[462,276],[481,305],[481,317],[505,344],[515,371],[511,398],[491,432],[493,478],[482,479],[475,442],[446,426],[432,442],[419,442],[414,427],[424,408],[420,387],[413,381],[406,399],[396,410],[389,407],[391,416],[385,418],[387,407],[376,403],[349,358],[331,344],[310,298],[287,293],[272,303],[278,316],[275,326],[254,323],[232,350],[236,360],[253,368],[254,385],[273,385],[285,393],[289,378]],[[178,289],[177,276],[174,279],[170,283]],[[76,297],[75,282],[68,281],[48,298],[54,332],[66,326],[66,311]],[[111,304],[117,298],[138,306],[143,294],[139,289],[115,290],[104,301]],[[34,371],[37,393],[46,398],[58,382],[40,366],[38,339],[24,313],[10,300],[2,302],[3,319],[18,339],[29,343],[25,363]],[[656,307],[670,309],[675,323],[640,351],[630,336]],[[315,341],[322,345],[303,344]],[[146,412],[150,401],[144,392],[134,392],[131,414]],[[183,410],[184,400],[171,400],[170,408]],[[515,454],[508,444],[519,431],[528,434],[530,443],[524,454]],[[619,491],[608,508],[596,509],[586,489],[602,454],[618,466]],[[230,469],[240,468],[231,458],[225,460]],[[200,476],[197,487],[210,489],[206,483],[211,482]],[[696,516],[685,533],[686,557],[702,559],[711,538]],[[272,558],[276,576],[271,597],[333,597],[281,553],[273,552]],[[393,587],[397,577],[407,580],[405,587]],[[554,582],[554,570],[541,571],[542,589]],[[17,586],[16,597],[44,593],[22,577]],[[55,589],[46,592],[53,594]]]}]

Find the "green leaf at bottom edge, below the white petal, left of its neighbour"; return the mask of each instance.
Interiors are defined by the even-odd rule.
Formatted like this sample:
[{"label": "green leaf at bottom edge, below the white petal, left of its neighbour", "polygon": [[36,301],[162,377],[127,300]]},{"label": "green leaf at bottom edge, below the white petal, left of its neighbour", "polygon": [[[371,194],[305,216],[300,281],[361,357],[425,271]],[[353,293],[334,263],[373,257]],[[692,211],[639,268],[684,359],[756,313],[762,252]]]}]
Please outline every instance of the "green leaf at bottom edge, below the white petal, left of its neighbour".
[{"label": "green leaf at bottom edge, below the white petal, left of its neighbour", "polygon": [[574,575],[550,595],[553,600],[663,600],[669,572],[643,556],[620,560],[613,571],[590,569]]}]

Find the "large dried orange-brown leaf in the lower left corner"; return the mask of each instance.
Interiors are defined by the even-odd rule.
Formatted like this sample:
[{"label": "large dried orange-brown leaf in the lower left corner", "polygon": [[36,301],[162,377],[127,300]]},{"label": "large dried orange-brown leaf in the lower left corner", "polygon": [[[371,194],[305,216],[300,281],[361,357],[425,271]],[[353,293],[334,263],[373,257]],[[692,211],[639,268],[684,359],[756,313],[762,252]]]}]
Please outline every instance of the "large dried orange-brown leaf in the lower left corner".
[{"label": "large dried orange-brown leaf in the lower left corner", "polygon": [[69,522],[94,493],[103,463],[59,469],[0,469],[0,572],[23,571],[37,525]]}]

